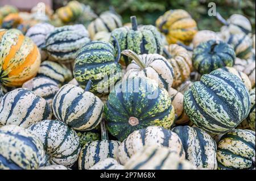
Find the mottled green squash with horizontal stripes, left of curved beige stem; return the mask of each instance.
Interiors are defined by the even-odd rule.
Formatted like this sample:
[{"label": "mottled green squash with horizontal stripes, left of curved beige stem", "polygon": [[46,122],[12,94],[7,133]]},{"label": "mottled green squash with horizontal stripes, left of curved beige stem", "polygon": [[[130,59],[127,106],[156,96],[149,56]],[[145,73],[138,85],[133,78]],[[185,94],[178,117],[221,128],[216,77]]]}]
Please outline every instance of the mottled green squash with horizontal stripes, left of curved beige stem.
[{"label": "mottled green squash with horizontal stripes, left of curved beige stem", "polygon": [[73,74],[82,88],[91,80],[91,92],[107,94],[123,73],[121,65],[115,62],[113,45],[92,41],[77,52]]}]

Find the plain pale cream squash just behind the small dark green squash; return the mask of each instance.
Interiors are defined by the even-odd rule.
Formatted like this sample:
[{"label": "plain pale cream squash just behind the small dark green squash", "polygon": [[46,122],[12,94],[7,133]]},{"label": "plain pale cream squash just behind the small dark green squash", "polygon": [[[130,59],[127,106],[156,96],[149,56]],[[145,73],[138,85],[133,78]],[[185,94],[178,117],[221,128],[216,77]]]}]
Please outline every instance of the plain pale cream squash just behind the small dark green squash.
[{"label": "plain pale cream squash just behind the small dark green squash", "polygon": [[218,40],[221,41],[221,38],[216,32],[210,30],[201,30],[195,34],[193,37],[193,47],[196,48],[200,43],[209,41],[209,40]]}]

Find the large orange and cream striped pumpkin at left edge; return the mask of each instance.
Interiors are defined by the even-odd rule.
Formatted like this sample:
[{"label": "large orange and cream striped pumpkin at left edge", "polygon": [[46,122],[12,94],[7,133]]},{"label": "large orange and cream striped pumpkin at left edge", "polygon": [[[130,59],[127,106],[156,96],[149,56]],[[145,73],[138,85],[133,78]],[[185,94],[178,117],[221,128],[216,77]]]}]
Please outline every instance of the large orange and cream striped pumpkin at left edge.
[{"label": "large orange and cream striped pumpkin at left edge", "polygon": [[0,84],[16,87],[35,77],[41,56],[33,41],[16,29],[0,29]]}]

